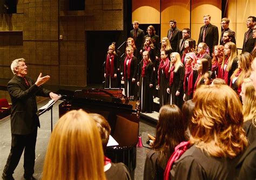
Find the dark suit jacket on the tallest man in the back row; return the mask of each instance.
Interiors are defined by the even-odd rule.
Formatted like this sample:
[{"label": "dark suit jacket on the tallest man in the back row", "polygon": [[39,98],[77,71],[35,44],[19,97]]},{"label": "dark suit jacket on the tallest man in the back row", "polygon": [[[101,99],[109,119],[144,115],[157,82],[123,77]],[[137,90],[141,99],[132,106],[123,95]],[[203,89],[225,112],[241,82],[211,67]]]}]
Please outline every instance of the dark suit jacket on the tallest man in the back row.
[{"label": "dark suit jacket on the tallest man in the back row", "polygon": [[[204,27],[205,26],[202,26],[200,28],[200,34],[199,34],[199,39],[198,39],[197,44],[199,44],[200,42],[203,42]],[[218,41],[219,41],[218,27],[212,25],[211,23],[208,24],[207,29],[206,29],[206,35],[205,35],[205,43],[207,44],[207,46],[210,49],[210,54],[212,54],[213,46],[218,45]]]}]

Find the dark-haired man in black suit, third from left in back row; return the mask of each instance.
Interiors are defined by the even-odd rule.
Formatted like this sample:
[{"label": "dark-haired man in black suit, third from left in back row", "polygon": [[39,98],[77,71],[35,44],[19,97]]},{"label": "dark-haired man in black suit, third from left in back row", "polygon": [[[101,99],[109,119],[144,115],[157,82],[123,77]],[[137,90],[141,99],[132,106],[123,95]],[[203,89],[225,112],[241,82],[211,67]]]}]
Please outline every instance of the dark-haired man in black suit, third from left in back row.
[{"label": "dark-haired man in black suit, third from left in back row", "polygon": [[176,20],[170,20],[170,30],[167,32],[167,38],[169,38],[171,42],[172,51],[176,52],[178,42],[182,38],[182,32],[177,27]]}]

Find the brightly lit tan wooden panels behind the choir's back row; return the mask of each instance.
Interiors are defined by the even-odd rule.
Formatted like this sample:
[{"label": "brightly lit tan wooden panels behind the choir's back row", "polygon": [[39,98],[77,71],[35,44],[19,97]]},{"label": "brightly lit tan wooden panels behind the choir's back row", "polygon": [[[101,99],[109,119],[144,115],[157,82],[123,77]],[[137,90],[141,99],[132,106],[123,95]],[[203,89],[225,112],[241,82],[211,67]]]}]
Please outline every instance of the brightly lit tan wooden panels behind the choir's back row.
[{"label": "brightly lit tan wooden panels behind the choir's back row", "polygon": [[[176,19],[177,27],[180,30],[184,27],[191,27],[191,37],[198,41],[205,14],[211,15],[211,23],[218,27],[220,34],[221,9],[225,9],[221,7],[221,3],[220,0],[133,0],[132,20],[138,20],[140,24],[160,24],[161,38],[163,38],[170,28],[169,21]],[[225,17],[230,19],[230,28],[236,32],[238,48],[242,47],[244,33],[247,31],[245,21],[248,16],[256,16],[255,9],[255,0],[227,1]],[[159,17],[159,20],[156,17]]]}]

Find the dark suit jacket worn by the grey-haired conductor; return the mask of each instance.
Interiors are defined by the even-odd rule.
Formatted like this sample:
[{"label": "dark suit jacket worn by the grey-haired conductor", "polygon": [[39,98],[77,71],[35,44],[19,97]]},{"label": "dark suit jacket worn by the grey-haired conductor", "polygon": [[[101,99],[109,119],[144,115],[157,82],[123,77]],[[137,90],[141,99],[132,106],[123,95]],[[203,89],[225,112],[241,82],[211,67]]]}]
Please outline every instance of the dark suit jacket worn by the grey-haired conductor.
[{"label": "dark suit jacket worn by the grey-haired conductor", "polygon": [[35,128],[40,127],[39,118],[36,114],[36,96],[49,97],[51,91],[37,87],[35,81],[25,76],[30,84],[28,87],[23,79],[14,75],[8,82],[8,92],[11,97],[11,133],[30,134]]}]

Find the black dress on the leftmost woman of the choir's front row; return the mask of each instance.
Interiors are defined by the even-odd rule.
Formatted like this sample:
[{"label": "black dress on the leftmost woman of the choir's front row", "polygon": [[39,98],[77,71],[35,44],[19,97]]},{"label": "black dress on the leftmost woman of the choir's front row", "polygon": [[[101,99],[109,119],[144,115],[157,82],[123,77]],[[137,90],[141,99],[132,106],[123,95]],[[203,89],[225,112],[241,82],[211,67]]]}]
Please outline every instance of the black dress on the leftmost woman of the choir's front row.
[{"label": "black dress on the leftmost woman of the choir's front row", "polygon": [[[113,56],[114,58],[111,60],[111,61],[114,61],[114,68],[113,68],[113,74],[117,74],[117,68],[118,68],[118,56],[117,55],[114,55]],[[106,61],[107,61],[107,55],[106,55]],[[104,73],[106,73],[106,61],[104,62]],[[111,66],[111,63],[109,63],[109,66]],[[111,67],[110,67],[111,69]],[[106,77],[105,77],[105,88],[117,88],[118,86],[118,80],[117,80],[117,77],[114,78],[114,77],[111,77],[111,75],[107,74]]]}]

